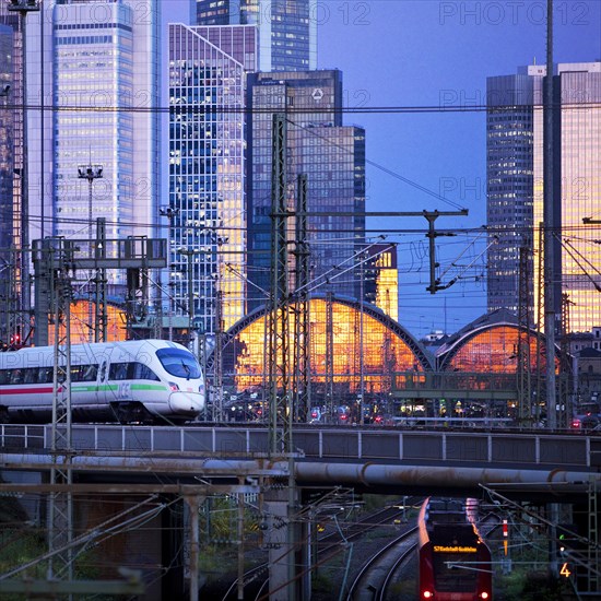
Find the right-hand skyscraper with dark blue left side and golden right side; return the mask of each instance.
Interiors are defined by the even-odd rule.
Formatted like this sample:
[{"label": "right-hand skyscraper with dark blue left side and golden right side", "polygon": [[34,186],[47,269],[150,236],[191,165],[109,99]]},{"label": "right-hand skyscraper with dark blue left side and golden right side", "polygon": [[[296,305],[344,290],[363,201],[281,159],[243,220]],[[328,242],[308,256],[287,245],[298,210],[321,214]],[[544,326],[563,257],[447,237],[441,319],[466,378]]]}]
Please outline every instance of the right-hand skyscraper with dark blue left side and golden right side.
[{"label": "right-hand skyscraper with dark blue left side and golden right side", "polygon": [[[569,331],[601,322],[601,249],[594,243],[601,211],[601,62],[559,63],[554,75],[553,187],[557,283],[569,305]],[[544,66],[518,75],[490,78],[487,86],[487,225],[498,240],[488,252],[488,310],[518,313],[520,273],[533,321],[542,317]],[[520,248],[527,260],[520,268]],[[522,286],[522,290],[525,286]],[[521,295],[523,297],[523,294]]]}]

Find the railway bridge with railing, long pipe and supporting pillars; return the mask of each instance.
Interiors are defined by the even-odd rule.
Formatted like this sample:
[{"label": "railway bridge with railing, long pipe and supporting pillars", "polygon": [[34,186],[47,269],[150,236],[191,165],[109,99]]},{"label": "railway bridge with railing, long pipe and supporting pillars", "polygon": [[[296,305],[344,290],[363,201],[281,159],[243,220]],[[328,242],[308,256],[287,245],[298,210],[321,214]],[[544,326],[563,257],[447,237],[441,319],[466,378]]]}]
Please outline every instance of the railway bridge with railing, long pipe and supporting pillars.
[{"label": "railway bridge with railing, long pipe and supporting pillars", "polygon": [[[33,518],[44,515],[40,495],[57,492],[56,485],[47,484],[49,470],[57,464],[69,466],[70,493],[82,499],[78,516],[82,523],[82,516],[87,516],[89,526],[92,508],[99,511],[98,499],[111,506],[111,495],[184,499],[188,517],[180,523],[182,540],[169,544],[164,539],[144,540],[129,552],[129,561],[135,562],[156,546],[162,551],[154,559],[165,565],[176,547],[190,549],[187,559],[181,559],[187,567],[170,580],[162,578],[162,587],[151,587],[144,599],[167,598],[162,590],[172,596],[179,591],[180,597],[191,590],[190,599],[196,590],[198,598],[198,582],[190,584],[189,569],[198,557],[193,516],[199,504],[215,494],[238,498],[240,516],[249,498],[259,506],[261,535],[270,554],[270,598],[286,600],[303,598],[303,591],[310,589],[306,541],[311,538],[311,520],[294,516],[319,511],[316,491],[334,491],[333,497],[323,494],[331,502],[337,491],[481,496],[484,486],[507,498],[586,506],[591,491],[597,498],[601,487],[601,437],[546,431],[302,425],[293,432],[294,453],[281,457],[269,453],[269,431],[250,425],[78,424],[72,426],[71,449],[51,453],[50,441],[50,425],[0,426],[0,494],[22,495]],[[96,526],[99,519],[96,516]],[[238,542],[243,547],[241,534]],[[294,593],[286,585],[291,566],[298,569],[292,575]]]}]

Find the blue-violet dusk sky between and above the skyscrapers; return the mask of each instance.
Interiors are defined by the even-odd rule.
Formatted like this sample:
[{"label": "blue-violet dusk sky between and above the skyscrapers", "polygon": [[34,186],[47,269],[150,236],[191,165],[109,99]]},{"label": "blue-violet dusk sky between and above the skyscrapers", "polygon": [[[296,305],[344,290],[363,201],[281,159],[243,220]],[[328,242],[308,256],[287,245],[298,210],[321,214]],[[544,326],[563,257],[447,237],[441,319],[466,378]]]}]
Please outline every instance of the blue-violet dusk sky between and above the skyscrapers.
[{"label": "blue-violet dusk sky between and above the skyscrapers", "polygon": [[[185,0],[163,2],[164,22],[187,22]],[[437,240],[449,268],[441,284],[473,262],[436,295],[426,292],[426,220],[367,222],[369,236],[399,244],[399,320],[414,335],[456,331],[486,310],[485,238],[474,232],[486,223],[485,113],[469,108],[485,105],[487,76],[545,62],[545,0],[318,2],[318,66],[342,70],[345,106],[365,109],[345,114],[344,125],[366,128],[367,211],[469,210],[436,221],[458,234]],[[601,60],[601,1],[555,0],[554,19],[555,62]]]}]

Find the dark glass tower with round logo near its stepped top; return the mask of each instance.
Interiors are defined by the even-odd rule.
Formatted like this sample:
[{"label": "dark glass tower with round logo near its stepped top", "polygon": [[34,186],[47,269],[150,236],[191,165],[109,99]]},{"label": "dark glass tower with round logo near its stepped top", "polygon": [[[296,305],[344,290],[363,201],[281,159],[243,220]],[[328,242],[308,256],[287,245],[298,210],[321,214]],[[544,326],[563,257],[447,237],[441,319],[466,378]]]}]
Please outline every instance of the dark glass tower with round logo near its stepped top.
[{"label": "dark glass tower with round logo near its stepped top", "polygon": [[[307,176],[309,291],[357,298],[365,241],[365,131],[342,126],[342,74],[337,70],[256,73],[248,102],[249,309],[270,290],[272,118],[286,115],[286,180],[294,207],[298,175]],[[294,285],[292,285],[294,288]]]}]

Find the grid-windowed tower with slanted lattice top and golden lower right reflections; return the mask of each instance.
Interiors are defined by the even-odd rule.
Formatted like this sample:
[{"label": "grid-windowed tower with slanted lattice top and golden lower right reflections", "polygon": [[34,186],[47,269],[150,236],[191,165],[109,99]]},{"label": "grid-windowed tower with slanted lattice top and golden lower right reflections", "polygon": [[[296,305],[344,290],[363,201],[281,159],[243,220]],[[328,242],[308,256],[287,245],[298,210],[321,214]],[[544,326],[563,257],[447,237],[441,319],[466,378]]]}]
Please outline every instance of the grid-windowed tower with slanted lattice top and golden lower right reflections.
[{"label": "grid-windowed tower with slanted lattice top and golden lower right reflections", "polygon": [[170,294],[176,313],[192,302],[203,333],[245,315],[244,103],[257,48],[250,25],[169,25]]}]

